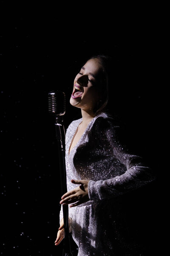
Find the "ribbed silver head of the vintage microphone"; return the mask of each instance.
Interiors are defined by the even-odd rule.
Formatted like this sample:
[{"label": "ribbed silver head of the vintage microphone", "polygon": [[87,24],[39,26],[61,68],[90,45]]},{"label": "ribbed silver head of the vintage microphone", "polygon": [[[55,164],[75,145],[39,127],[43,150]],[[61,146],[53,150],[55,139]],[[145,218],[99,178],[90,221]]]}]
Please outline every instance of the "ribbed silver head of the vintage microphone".
[{"label": "ribbed silver head of the vintage microphone", "polygon": [[48,93],[48,112],[58,116],[65,114],[65,93],[58,90]]}]

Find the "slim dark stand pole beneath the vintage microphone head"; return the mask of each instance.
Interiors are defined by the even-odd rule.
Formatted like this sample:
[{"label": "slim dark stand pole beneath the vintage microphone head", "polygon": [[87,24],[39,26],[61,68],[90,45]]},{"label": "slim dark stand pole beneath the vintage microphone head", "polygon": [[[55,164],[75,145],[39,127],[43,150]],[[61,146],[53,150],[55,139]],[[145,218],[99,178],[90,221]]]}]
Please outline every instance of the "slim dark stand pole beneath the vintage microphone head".
[{"label": "slim dark stand pole beneath the vintage microphone head", "polygon": [[[67,192],[67,182],[66,182],[66,169],[65,169],[65,129],[63,125],[63,117],[56,116],[55,120],[55,131],[56,139],[58,141],[58,154],[59,154],[59,170],[60,170],[60,183],[61,183],[61,192],[64,195]],[[71,253],[71,242],[69,236],[69,227],[68,227],[68,205],[62,205],[63,210],[63,220],[64,220],[64,248],[62,256],[72,256]]]}]

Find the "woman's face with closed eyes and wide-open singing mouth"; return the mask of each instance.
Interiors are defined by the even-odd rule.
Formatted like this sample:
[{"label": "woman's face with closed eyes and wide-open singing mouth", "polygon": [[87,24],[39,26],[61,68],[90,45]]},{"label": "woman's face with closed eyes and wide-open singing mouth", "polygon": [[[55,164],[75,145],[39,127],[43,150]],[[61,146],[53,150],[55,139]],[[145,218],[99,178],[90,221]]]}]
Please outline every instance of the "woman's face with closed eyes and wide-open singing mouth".
[{"label": "woman's face with closed eyes and wide-open singing mouth", "polygon": [[101,69],[102,66],[96,58],[85,63],[74,79],[73,93],[70,98],[71,105],[93,113],[93,109],[100,99],[97,86]]}]

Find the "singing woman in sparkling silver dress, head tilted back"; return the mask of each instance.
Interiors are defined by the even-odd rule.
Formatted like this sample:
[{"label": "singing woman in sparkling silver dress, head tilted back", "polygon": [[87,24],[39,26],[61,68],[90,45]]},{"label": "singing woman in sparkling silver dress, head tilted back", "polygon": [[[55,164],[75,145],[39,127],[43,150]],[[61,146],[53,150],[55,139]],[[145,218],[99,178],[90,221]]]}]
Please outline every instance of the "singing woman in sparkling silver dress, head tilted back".
[{"label": "singing woman in sparkling silver dress, head tilted back", "polygon": [[[71,105],[82,118],[71,122],[65,137],[69,226],[78,256],[144,255],[133,245],[122,217],[127,192],[153,180],[141,157],[130,154],[118,139],[119,127],[105,113],[110,58],[90,58],[74,79]],[[64,238],[62,210],[55,244]],[[140,253],[140,254],[139,254]]]}]

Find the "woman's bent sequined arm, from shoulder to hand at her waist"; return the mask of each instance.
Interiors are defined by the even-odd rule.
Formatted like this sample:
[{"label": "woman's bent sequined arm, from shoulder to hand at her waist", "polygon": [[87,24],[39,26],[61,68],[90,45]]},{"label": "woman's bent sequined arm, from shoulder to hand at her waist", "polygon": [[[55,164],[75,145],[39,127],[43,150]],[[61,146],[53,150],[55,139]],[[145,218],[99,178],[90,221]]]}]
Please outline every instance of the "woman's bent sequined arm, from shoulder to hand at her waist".
[{"label": "woman's bent sequined arm, from shoulder to hand at her waist", "polygon": [[[107,145],[109,154],[116,159],[118,165],[122,166],[122,175],[108,180],[78,180],[76,183],[81,184],[85,191],[77,187],[67,192],[62,196],[60,204],[76,202],[70,206],[74,207],[89,200],[113,198],[144,186],[155,179],[152,170],[142,163],[142,158],[130,154],[125,146],[122,146],[118,139],[118,129],[119,127],[114,126],[108,119],[98,118],[91,136],[95,136],[96,145]],[[104,172],[108,171],[104,170]]]}]

